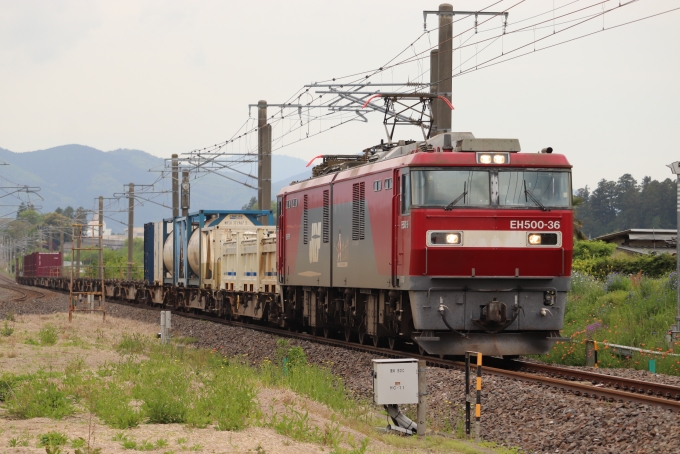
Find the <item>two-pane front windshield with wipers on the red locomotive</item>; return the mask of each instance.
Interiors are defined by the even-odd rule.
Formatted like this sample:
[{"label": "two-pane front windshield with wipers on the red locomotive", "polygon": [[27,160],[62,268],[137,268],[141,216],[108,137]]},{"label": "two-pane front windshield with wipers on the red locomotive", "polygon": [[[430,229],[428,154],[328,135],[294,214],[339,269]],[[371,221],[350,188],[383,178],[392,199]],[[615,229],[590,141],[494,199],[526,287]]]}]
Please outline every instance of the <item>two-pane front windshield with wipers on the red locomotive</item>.
[{"label": "two-pane front windshield with wipers on the red locomotive", "polygon": [[446,209],[561,208],[571,206],[571,178],[558,170],[413,169],[411,197],[413,206]]}]

